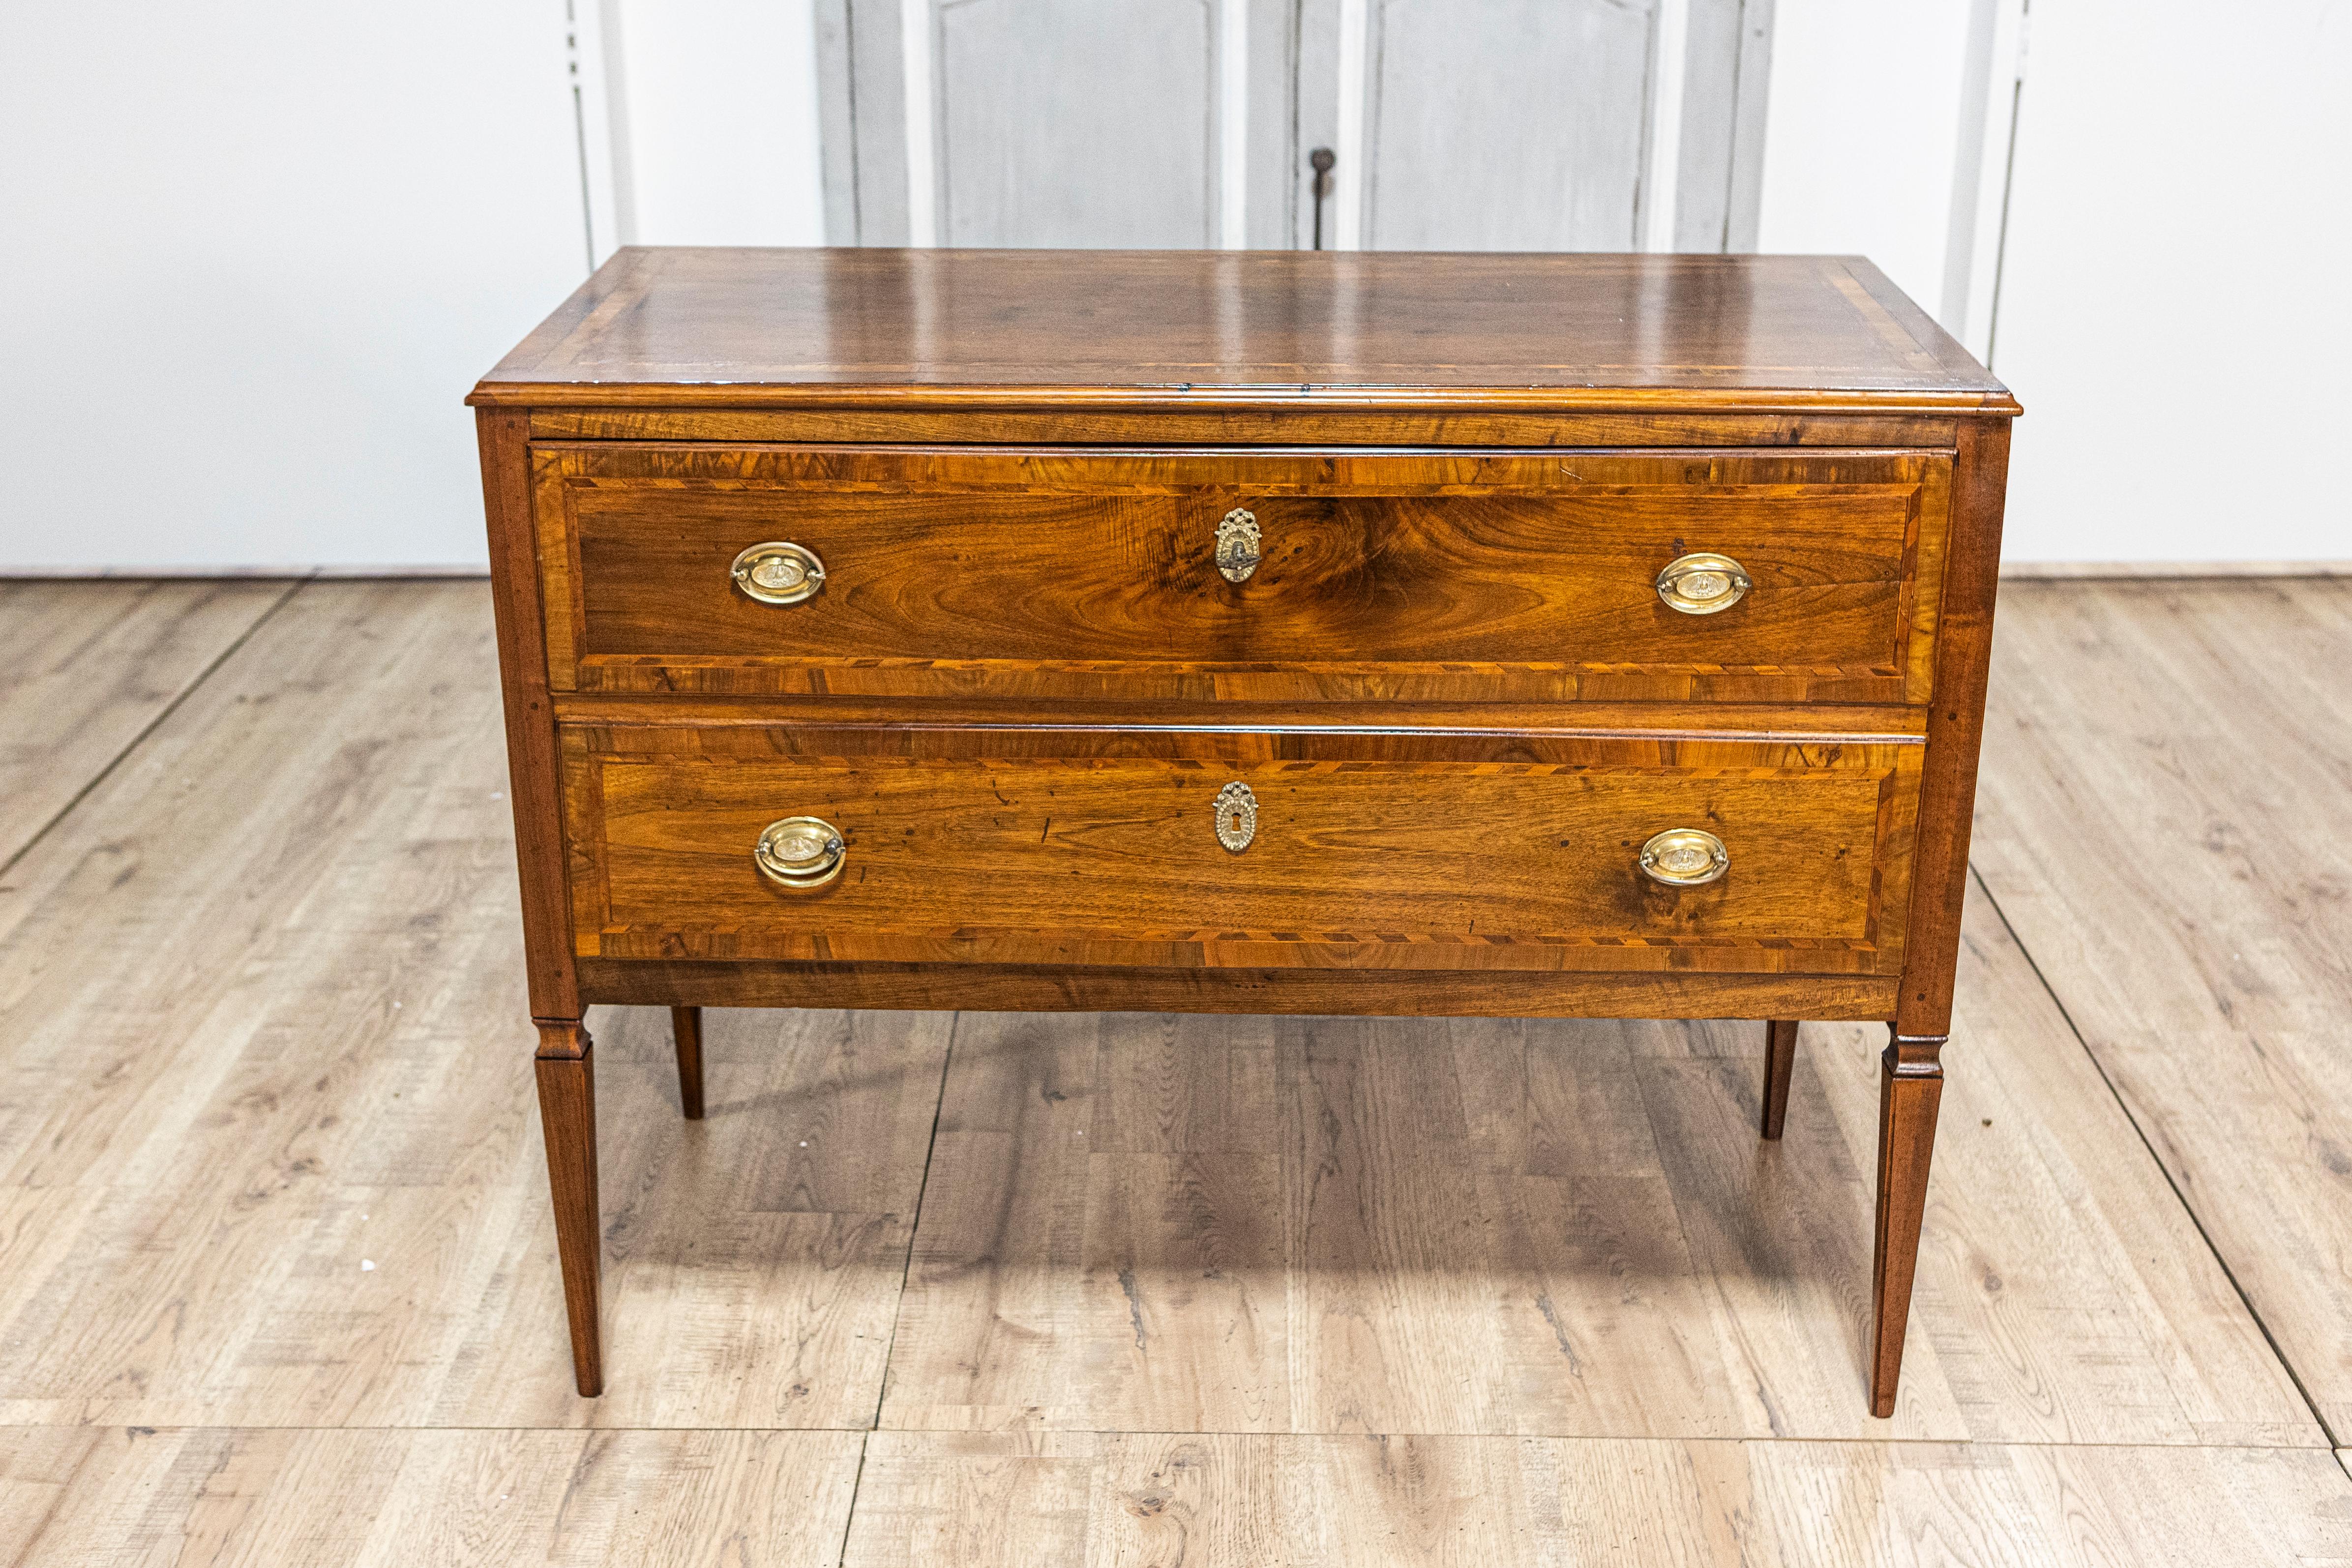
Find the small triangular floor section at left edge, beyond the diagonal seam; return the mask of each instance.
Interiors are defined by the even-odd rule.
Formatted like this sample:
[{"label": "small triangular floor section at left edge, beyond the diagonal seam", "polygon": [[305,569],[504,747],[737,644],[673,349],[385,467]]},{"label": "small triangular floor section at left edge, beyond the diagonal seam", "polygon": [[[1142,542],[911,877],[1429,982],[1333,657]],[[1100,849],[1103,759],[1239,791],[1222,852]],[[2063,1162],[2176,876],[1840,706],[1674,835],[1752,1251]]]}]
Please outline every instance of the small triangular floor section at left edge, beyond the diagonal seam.
[{"label": "small triangular floor section at left edge, beyond the diagonal seam", "polygon": [[285,595],[256,581],[0,581],[0,865]]}]

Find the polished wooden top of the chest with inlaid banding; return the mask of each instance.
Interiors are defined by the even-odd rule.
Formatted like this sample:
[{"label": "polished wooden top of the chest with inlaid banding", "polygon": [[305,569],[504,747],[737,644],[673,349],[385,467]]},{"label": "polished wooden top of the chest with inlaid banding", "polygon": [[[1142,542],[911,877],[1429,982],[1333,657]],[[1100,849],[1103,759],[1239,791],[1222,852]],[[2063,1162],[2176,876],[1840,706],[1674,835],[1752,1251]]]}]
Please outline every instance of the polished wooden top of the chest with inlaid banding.
[{"label": "polished wooden top of the chest with inlaid banding", "polygon": [[468,402],[1987,409],[1858,256],[623,249]]}]

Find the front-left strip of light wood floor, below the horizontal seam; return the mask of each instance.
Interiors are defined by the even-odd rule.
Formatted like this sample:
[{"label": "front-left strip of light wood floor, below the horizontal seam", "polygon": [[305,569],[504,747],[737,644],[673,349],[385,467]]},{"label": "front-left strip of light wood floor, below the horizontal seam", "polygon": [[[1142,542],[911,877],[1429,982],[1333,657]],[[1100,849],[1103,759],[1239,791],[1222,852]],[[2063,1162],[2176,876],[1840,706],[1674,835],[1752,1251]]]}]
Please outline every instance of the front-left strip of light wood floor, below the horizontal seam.
[{"label": "front-left strip of light wood floor, below the horizontal seam", "polygon": [[0,1427],[9,1568],[840,1559],[849,1432]]}]

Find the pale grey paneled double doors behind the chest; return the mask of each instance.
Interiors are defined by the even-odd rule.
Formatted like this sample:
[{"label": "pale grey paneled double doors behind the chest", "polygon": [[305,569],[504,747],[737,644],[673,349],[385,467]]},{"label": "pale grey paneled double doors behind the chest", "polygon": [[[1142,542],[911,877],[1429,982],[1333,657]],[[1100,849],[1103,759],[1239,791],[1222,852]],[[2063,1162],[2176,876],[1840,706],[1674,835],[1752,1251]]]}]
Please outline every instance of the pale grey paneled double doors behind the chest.
[{"label": "pale grey paneled double doors behind the chest", "polygon": [[1755,242],[1771,0],[818,0],[816,28],[835,244]]}]

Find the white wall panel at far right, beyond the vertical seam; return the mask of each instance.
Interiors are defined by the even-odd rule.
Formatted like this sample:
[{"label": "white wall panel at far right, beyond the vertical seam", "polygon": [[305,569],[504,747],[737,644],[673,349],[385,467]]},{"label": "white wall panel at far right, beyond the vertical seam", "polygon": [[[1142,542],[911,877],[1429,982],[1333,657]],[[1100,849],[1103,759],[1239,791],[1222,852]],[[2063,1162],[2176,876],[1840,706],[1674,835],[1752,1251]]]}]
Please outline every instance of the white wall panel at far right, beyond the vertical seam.
[{"label": "white wall panel at far right, beyond the vertical seam", "polygon": [[2352,559],[2352,5],[2034,0],[2018,559]]}]

